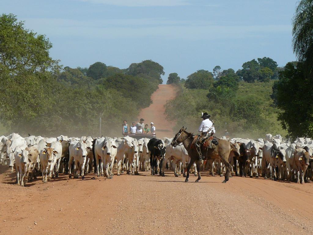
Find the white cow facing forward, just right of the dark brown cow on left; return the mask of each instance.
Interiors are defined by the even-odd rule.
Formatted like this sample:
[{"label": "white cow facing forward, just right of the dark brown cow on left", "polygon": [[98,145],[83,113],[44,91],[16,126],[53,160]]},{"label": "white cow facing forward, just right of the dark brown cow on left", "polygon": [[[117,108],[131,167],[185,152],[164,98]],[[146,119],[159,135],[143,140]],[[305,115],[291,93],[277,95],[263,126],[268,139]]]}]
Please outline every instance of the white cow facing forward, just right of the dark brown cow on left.
[{"label": "white cow facing forward, just right of the dark brown cow on left", "polygon": [[84,170],[86,157],[89,151],[92,151],[92,149],[90,149],[90,147],[87,147],[87,144],[84,143],[82,139],[80,139],[80,141],[77,140],[71,141],[71,143],[69,144],[69,178],[72,178],[71,165],[74,159],[74,169],[73,169],[74,178],[79,177],[78,174],[79,171],[78,164],[79,164],[81,178],[85,179]]}]

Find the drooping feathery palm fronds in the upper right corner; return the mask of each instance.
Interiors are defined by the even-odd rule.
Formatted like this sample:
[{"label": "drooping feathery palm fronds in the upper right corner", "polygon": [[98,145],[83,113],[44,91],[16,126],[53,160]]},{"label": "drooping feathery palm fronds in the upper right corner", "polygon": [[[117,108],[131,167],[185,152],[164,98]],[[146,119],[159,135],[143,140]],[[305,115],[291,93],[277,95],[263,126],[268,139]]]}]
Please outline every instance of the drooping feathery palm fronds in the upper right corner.
[{"label": "drooping feathery palm fronds in the upper right corner", "polygon": [[[313,61],[313,0],[301,0],[293,18],[293,50],[299,61]],[[312,64],[312,63],[311,63]]]}]

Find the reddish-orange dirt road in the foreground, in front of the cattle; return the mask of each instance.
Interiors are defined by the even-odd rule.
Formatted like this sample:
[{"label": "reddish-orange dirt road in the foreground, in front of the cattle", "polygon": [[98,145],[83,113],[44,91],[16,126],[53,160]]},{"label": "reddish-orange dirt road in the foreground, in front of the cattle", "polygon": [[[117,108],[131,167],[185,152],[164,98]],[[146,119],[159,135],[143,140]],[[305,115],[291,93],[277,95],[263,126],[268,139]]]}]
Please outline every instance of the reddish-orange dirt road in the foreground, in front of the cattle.
[{"label": "reddish-orange dirt road in the foreground, in front of the cattle", "polygon": [[[0,170],[3,172],[4,167]],[[312,234],[313,184],[204,176],[85,180],[61,175],[13,185],[0,175],[0,234]],[[195,176],[190,181],[196,180]]]}]

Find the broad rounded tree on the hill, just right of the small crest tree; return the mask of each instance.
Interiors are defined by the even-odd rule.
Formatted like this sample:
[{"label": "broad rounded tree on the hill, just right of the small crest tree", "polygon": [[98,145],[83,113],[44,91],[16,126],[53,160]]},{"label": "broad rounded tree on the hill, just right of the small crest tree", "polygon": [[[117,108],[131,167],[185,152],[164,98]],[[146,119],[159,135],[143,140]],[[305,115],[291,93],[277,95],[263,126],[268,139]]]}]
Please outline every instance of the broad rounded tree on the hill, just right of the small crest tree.
[{"label": "broad rounded tree on the hill, just right of the small crest tree", "polygon": [[198,70],[190,74],[185,82],[189,89],[209,89],[213,85],[213,74],[208,70]]}]

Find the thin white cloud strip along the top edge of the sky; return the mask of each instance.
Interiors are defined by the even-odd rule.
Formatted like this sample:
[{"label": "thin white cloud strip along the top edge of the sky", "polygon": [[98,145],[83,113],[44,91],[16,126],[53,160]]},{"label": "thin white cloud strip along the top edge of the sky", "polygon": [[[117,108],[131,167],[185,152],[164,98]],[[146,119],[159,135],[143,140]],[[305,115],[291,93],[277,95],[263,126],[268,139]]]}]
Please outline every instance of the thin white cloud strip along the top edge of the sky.
[{"label": "thin white cloud strip along the top edge of the sky", "polygon": [[[77,0],[76,0],[77,1]],[[126,7],[184,6],[190,5],[188,0],[78,0]]]}]

